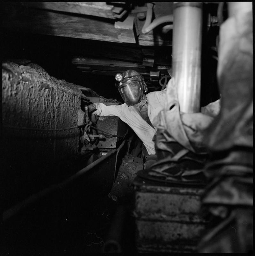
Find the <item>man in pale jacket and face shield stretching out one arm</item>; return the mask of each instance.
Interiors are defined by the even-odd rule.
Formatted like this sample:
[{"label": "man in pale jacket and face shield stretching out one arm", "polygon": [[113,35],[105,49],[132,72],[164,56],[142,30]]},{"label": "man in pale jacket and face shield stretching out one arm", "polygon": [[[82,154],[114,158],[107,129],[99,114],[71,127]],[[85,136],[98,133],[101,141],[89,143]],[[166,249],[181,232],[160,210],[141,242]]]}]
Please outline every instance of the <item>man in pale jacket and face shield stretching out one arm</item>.
[{"label": "man in pale jacket and face shield stretching out one arm", "polygon": [[89,109],[96,108],[92,114],[97,116],[118,116],[141,139],[148,154],[155,154],[154,120],[164,106],[165,89],[147,93],[144,78],[131,69],[123,74],[116,74],[115,79],[124,104],[106,106],[102,103],[93,103]]}]

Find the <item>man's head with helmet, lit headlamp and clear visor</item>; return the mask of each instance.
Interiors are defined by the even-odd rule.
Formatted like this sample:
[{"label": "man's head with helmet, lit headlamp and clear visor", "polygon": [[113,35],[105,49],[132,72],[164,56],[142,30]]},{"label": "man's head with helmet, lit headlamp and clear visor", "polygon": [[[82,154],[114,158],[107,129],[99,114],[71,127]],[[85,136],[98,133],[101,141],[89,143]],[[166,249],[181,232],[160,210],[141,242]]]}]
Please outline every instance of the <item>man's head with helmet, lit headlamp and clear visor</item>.
[{"label": "man's head with helmet, lit headlamp and clear visor", "polygon": [[118,73],[115,79],[120,95],[128,106],[139,103],[143,94],[148,91],[142,75],[135,70],[129,69],[123,74]]}]

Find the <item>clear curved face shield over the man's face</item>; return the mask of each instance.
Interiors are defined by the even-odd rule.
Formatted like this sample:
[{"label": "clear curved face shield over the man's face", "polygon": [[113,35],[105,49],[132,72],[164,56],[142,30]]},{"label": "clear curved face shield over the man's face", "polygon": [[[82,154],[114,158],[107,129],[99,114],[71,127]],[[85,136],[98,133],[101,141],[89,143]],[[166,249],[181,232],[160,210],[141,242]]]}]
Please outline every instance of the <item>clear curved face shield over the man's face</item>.
[{"label": "clear curved face shield over the man's face", "polygon": [[143,96],[143,83],[138,80],[126,80],[120,82],[118,90],[124,102],[128,106],[139,103]]}]

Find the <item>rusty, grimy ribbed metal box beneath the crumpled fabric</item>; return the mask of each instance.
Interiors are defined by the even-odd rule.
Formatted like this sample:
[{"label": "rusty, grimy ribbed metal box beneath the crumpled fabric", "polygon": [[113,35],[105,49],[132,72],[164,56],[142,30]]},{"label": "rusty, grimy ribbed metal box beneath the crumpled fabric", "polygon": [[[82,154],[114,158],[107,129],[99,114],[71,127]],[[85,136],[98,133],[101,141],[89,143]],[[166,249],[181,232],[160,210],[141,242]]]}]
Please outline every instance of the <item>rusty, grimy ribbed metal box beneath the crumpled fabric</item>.
[{"label": "rusty, grimy ribbed metal box beneath the crumpled fabric", "polygon": [[136,178],[134,189],[138,251],[195,252],[205,226],[198,215],[203,188]]}]

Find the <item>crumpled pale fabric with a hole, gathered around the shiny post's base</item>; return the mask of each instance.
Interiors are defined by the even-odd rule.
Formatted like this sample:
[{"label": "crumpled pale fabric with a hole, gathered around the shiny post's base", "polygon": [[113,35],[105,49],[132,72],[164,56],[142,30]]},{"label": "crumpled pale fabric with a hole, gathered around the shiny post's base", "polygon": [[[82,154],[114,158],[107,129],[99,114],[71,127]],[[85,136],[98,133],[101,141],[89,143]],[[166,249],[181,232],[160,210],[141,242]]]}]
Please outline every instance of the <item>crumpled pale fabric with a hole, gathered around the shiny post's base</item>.
[{"label": "crumpled pale fabric with a hole, gathered around the shiny post's base", "polygon": [[172,78],[167,85],[164,109],[155,122],[155,150],[159,160],[150,166],[148,175],[172,182],[202,181],[199,175],[208,157],[203,131],[212,120],[212,116],[202,113],[180,112]]}]

